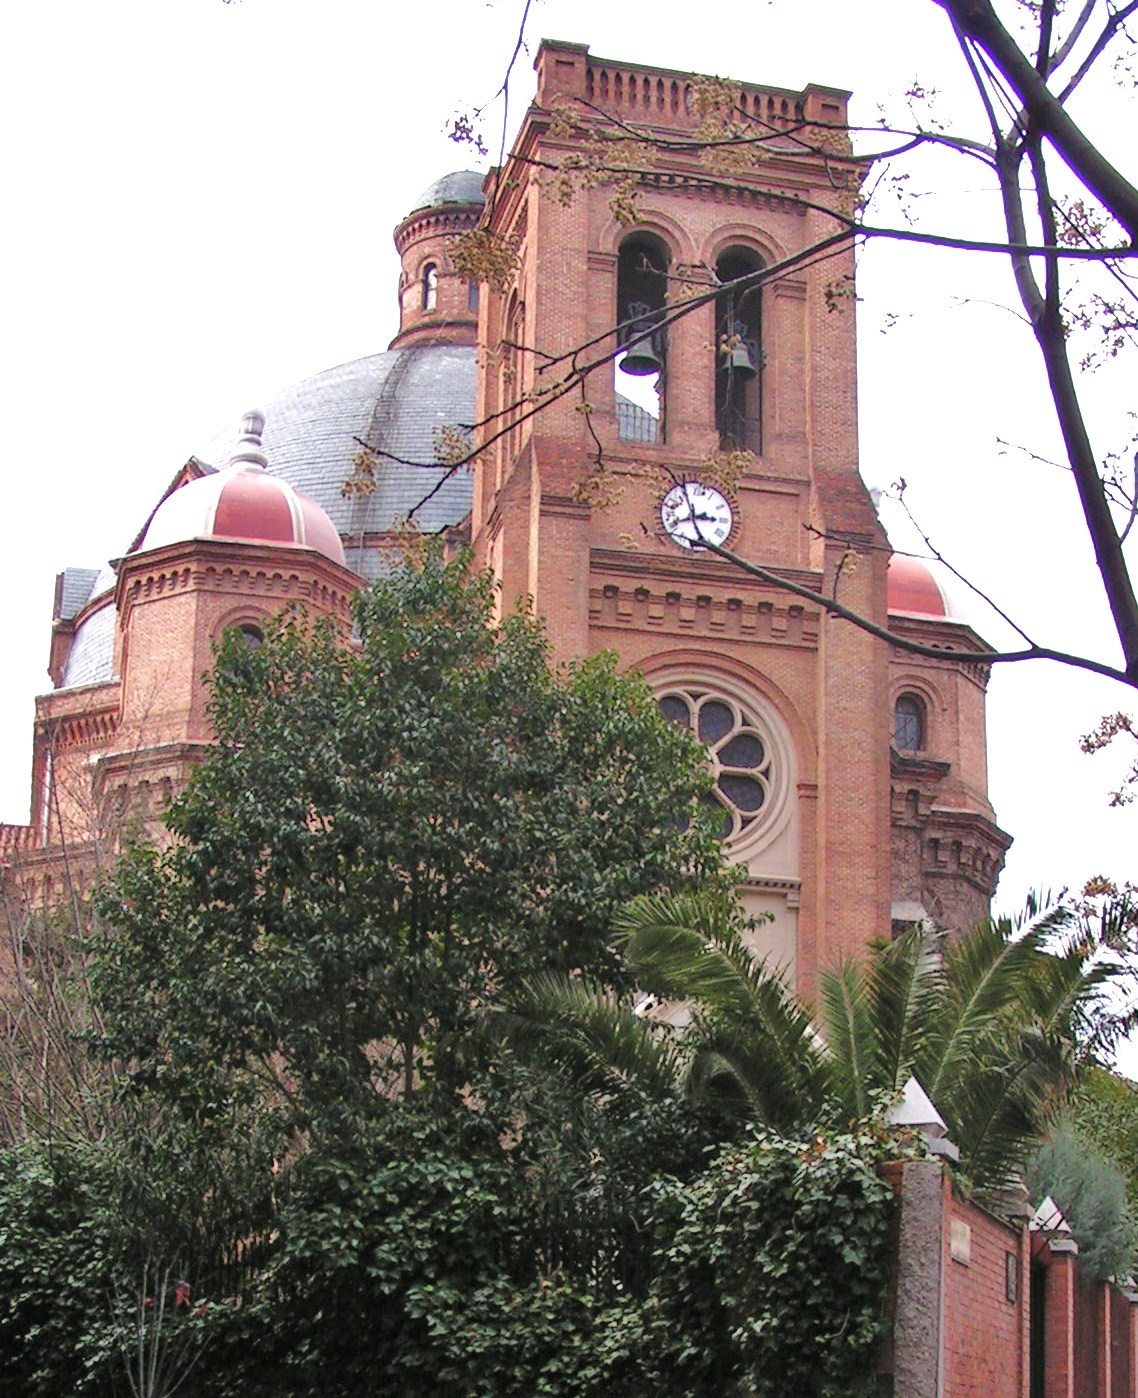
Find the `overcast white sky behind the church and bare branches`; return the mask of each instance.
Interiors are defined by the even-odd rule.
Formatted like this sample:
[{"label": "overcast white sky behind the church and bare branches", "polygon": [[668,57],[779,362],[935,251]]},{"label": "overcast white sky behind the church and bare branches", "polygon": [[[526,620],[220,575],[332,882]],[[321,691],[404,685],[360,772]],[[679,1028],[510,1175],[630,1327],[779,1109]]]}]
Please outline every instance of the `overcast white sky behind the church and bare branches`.
[{"label": "overcast white sky behind the church and bare branches", "polygon": [[[56,572],[120,554],[186,457],[247,407],[386,348],[391,228],[436,175],[471,164],[445,126],[494,95],[520,11],[521,0],[10,7],[0,819],[27,819]],[[863,122],[878,101],[896,110],[914,77],[944,89],[946,115],[972,112],[932,0],[735,3],[703,21],[689,6],[538,0],[530,35],[770,85],[851,88]],[[514,113],[531,91],[523,56]],[[1107,94],[1078,109],[1092,137],[1109,144],[1132,127],[1118,103]],[[997,231],[979,168],[945,159],[913,185],[938,189],[919,201],[928,226]],[[867,481],[906,477],[935,541],[1040,642],[1117,658],[1068,477],[997,446],[1056,452],[1033,345],[1007,309],[1007,268],[877,245],[860,294]],[[1132,379],[1118,369],[1093,391],[1106,450]],[[965,610],[990,640],[1007,639],[980,604]],[[1118,763],[1078,752],[1078,735],[1132,698],[1054,665],[993,678],[991,793],[1016,837],[1002,906],[1032,886],[1135,874],[1138,816],[1107,808]]]}]

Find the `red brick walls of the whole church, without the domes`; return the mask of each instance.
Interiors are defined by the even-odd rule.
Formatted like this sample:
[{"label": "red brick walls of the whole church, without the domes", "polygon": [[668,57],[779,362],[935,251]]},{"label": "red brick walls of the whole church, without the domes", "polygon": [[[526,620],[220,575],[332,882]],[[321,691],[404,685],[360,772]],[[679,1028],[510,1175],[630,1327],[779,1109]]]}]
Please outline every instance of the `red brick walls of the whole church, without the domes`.
[{"label": "red brick walls of the whole church, without the domes", "polygon": [[[535,103],[500,178],[485,185],[484,226],[513,242],[516,270],[474,295],[453,249],[480,217],[477,176],[438,182],[396,232],[393,348],[464,347],[477,324],[474,412],[487,446],[463,530],[500,580],[503,607],[527,598],[558,658],[615,650],[686,705],[693,724],[714,719],[761,752],[748,759],[758,766],[724,768],[724,819],[747,902],[770,914],[759,945],[809,994],[821,966],[898,917],[962,927],[981,916],[1007,847],[986,793],[983,643],[945,617],[889,617],[888,542],[857,471],[853,259],[844,245],[822,263],[807,256],[835,235],[828,210],[858,175],[840,131],[846,96],[741,85],[734,101],[773,136],[761,162],[724,172],[698,152],[638,147],[635,211],[614,211],[611,182],[566,190],[551,172],[587,155],[598,113],[664,141],[692,137],[702,80],[575,45],[542,45],[537,70]],[[801,122],[826,130],[828,151],[790,136]],[[611,359],[621,257],[636,239],[667,264],[668,312],[713,292],[731,257],[766,268],[745,356],[761,426],[748,429],[737,478],[720,482],[727,544],[805,596],[681,548],[661,527],[665,489],[707,478],[709,461],[733,446],[720,415],[730,344],[714,296],[677,315],[660,340],[660,419],[626,431]],[[559,394],[575,351],[597,366]],[[375,421],[394,411],[397,377]],[[390,460],[377,459],[380,491]],[[175,487],[196,475],[192,466]],[[356,561],[384,544],[372,526],[341,530]],[[7,832],[6,846],[38,849],[46,867],[52,850],[103,828],[108,811],[157,814],[210,741],[201,677],[219,630],[287,604],[344,617],[355,582],[313,549],[215,537],[154,549],[140,538],[113,593],[56,626],[59,688],[39,702],[31,828]],[[892,619],[944,657],[891,654],[829,618],[812,600],[823,594],[878,625]],[[69,653],[106,608],[113,665],[75,685]],[[920,696],[927,733],[920,751],[891,755],[900,693]],[[730,744],[720,734],[728,755]],[[756,781],[751,807],[733,807],[724,793],[755,793]]]}]

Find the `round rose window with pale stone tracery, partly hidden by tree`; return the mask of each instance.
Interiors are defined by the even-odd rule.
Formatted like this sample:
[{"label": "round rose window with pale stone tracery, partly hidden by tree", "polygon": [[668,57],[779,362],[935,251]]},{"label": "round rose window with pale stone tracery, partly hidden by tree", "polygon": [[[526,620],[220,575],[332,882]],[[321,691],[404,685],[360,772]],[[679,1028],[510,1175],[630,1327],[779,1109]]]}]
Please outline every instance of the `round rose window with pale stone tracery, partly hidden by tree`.
[{"label": "round rose window with pale stone tracery, partly hidden by tree", "polygon": [[671,689],[658,699],[665,719],[707,748],[714,790],[705,798],[723,823],[720,837],[744,835],[770,801],[770,747],[754,719],[731,699],[702,689]]}]

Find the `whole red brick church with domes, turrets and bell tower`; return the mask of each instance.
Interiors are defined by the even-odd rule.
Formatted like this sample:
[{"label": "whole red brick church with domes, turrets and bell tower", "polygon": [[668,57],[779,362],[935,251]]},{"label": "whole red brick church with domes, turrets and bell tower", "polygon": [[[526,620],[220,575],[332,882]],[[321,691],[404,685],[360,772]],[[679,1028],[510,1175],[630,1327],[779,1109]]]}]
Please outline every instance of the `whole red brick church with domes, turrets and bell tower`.
[{"label": "whole red brick church with domes, turrets and bell tower", "polygon": [[60,573],[31,819],[0,826],[31,896],[126,812],[155,818],[208,749],[225,628],[256,644],[288,604],[347,617],[410,519],[467,542],[503,610],[527,598],[555,658],[615,651],[706,744],[762,949],[798,990],[891,925],[987,911],[1009,844],[987,647],[891,555],[858,474],[846,94],[572,43],[542,43],[537,73],[500,171],[408,192],[390,348],[172,480],[157,463],[124,556]]}]

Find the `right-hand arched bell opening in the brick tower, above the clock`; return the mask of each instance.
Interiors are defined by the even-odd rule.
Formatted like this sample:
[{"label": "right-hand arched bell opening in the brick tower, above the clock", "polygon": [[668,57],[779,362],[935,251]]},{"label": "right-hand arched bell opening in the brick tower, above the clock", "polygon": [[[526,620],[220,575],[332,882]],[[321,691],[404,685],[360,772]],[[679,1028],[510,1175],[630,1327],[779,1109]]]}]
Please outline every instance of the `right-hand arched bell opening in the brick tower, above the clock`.
[{"label": "right-hand arched bell opening in the brick tower, above the clock", "polygon": [[761,267],[749,247],[716,261],[716,426],[728,450],[762,450],[762,299],[748,281]]}]

